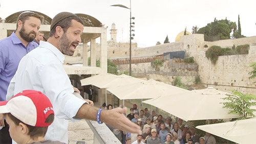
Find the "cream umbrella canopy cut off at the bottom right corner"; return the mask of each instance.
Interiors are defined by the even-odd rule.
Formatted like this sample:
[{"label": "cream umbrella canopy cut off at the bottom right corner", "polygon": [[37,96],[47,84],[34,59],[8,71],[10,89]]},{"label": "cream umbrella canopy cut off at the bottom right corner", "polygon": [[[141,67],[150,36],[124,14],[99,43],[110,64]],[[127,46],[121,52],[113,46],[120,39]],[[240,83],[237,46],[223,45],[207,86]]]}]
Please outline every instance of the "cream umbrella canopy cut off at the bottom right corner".
[{"label": "cream umbrella canopy cut off at the bottom right corner", "polygon": [[237,143],[255,143],[256,118],[228,123],[197,126],[196,128]]}]

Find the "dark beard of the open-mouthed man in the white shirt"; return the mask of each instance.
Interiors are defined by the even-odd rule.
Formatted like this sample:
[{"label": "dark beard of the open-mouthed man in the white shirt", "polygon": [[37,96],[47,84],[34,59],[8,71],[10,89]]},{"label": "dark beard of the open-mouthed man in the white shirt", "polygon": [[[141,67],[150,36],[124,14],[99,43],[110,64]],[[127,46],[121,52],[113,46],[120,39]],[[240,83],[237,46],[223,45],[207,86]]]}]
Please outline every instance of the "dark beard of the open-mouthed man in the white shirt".
[{"label": "dark beard of the open-mouthed man in the white shirt", "polygon": [[72,50],[70,50],[71,45],[72,44],[76,44],[76,45],[79,44],[77,41],[70,42],[66,33],[63,34],[62,37],[60,37],[59,43],[60,43],[60,49],[62,50],[62,53],[65,54],[65,55],[68,55],[68,56],[73,56],[74,55],[74,52]]}]

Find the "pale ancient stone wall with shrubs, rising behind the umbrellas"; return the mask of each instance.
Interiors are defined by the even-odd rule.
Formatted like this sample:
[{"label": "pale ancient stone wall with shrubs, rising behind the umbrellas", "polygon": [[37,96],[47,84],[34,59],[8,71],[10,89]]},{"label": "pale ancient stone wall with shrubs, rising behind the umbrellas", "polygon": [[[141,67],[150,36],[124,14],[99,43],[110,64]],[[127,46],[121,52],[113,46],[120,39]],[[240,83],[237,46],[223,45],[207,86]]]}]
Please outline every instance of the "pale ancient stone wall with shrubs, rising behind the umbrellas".
[{"label": "pale ancient stone wall with shrubs, rising behind the umbrellas", "polygon": [[[185,57],[194,57],[194,60],[199,65],[198,74],[200,75],[201,82],[205,84],[205,86],[213,86],[224,91],[235,89],[244,93],[256,94],[256,84],[253,83],[256,79],[249,80],[250,75],[248,74],[252,70],[249,66],[250,63],[256,62],[255,42],[256,36],[209,42],[204,41],[202,34],[193,34],[182,36],[179,42],[138,48],[135,50],[135,55],[153,56],[161,55],[164,52],[185,51]],[[205,52],[212,45],[232,47],[233,45],[238,46],[243,44],[250,44],[249,54],[220,56],[215,65],[205,57]],[[119,68],[124,67],[129,70],[129,65],[119,65]],[[169,69],[173,68],[175,68],[175,66],[172,68],[169,67]],[[160,69],[163,70],[162,67]],[[151,67],[151,63],[133,64],[132,71],[134,74],[137,73],[138,76],[142,76],[142,73],[147,73],[148,78],[155,78],[161,81],[172,81],[173,78],[173,76],[167,75],[169,73],[166,69],[163,70],[164,72],[162,72],[162,74],[160,74],[161,72],[152,73],[154,69]],[[185,78],[186,75],[183,76],[183,78]],[[186,77],[193,76],[189,75]],[[192,81],[193,79],[194,78],[187,78],[187,81]]]}]

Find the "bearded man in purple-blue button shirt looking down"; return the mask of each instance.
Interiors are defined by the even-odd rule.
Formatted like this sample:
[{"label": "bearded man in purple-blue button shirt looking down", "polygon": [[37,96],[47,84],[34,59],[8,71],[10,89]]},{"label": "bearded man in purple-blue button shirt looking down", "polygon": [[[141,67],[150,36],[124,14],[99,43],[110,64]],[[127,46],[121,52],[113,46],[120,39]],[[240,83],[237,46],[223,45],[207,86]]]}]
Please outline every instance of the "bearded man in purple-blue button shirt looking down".
[{"label": "bearded man in purple-blue button shirt looking down", "polygon": [[[6,101],[6,93],[19,61],[38,44],[33,42],[44,17],[34,12],[23,12],[18,16],[16,31],[0,40],[0,101]],[[12,143],[9,127],[0,122],[0,143]]]}]

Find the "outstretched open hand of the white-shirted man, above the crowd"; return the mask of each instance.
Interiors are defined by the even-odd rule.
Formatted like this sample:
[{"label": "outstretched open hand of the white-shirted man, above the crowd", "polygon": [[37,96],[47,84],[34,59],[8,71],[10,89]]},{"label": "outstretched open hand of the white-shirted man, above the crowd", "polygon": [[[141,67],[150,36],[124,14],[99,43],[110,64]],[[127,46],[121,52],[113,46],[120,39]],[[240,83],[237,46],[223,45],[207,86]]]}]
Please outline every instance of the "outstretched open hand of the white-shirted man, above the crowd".
[{"label": "outstretched open hand of the white-shirted man, above the crowd", "polygon": [[100,120],[104,123],[110,124],[113,127],[131,133],[142,134],[140,127],[126,118],[125,114],[127,108],[115,108],[112,110],[102,110]]}]

